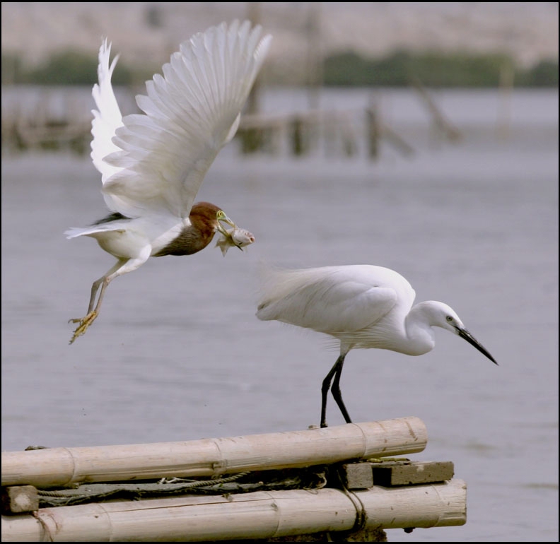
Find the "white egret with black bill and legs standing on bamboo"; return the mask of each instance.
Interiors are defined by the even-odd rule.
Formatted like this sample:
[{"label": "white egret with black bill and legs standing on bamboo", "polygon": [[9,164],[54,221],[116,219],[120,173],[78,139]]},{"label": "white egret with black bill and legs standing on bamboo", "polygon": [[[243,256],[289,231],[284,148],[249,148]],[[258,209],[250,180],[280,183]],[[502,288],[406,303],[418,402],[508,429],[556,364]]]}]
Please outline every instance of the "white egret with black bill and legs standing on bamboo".
[{"label": "white egret with black bill and legs standing on bamboo", "polygon": [[265,274],[259,319],[283,321],[340,341],[337,362],[322,382],[321,427],[327,427],[327,394],[333,377],[332,396],[346,423],[351,423],[340,392],[342,365],[351,349],[423,355],[436,345],[433,327],[438,326],[464,338],[498,364],[447,304],[428,300],[413,306],[414,289],[390,268],[367,264],[269,268]]}]

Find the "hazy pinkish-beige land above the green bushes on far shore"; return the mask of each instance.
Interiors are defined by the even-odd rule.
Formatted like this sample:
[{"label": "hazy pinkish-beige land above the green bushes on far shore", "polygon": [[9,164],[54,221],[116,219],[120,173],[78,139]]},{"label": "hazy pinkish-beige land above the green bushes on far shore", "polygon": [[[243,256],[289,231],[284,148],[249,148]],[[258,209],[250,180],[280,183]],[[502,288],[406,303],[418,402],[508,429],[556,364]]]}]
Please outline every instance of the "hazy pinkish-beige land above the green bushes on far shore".
[{"label": "hazy pinkish-beige land above the green bushes on far shore", "polygon": [[251,18],[274,40],[271,66],[354,51],[507,52],[525,68],[558,59],[557,2],[2,2],[2,52],[26,64],[53,52],[94,53],[102,36],[127,63],[161,66],[180,42],[222,20]]}]

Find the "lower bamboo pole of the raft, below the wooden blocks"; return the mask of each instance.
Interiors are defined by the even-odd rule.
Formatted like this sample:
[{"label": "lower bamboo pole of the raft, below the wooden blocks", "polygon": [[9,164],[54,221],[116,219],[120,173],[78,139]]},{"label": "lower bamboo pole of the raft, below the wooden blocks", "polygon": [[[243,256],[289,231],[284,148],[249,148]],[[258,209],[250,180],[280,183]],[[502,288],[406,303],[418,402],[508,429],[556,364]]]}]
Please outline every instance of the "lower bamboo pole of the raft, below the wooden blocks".
[{"label": "lower bamboo pole of the raft, below the wooden blocks", "polygon": [[463,480],[371,487],[354,493],[258,491],[45,508],[2,516],[2,542],[153,542],[276,538],[363,528],[458,526],[466,522]]}]

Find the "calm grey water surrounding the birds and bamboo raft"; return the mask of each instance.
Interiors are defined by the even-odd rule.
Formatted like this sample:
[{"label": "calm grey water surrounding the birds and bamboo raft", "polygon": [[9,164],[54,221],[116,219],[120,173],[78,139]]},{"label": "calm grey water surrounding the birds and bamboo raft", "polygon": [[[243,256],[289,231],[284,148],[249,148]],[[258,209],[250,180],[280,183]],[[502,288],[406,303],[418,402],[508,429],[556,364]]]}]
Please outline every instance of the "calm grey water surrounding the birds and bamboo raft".
[{"label": "calm grey water surrounding the birds and bamboo raft", "polygon": [[[347,110],[366,93],[331,93]],[[327,338],[255,317],[259,261],[378,264],[417,300],[450,304],[496,367],[443,330],[421,357],[355,350],[342,391],[356,422],[414,415],[416,461],[453,461],[465,526],[387,531],[395,542],[542,542],[558,536],[558,93],[515,93],[496,138],[493,93],[440,93],[465,140],[438,141],[418,100],[387,93],[418,153],[378,162],[322,153],[240,158],[235,142],[199,199],[257,242],[151,259],[107,289],[85,336],[91,283],[113,259],[66,227],[105,213],[88,158],[2,160],[2,449],[169,442],[317,424]],[[329,102],[328,102],[329,101]],[[269,110],[305,96],[271,93]],[[344,422],[329,398],[330,425]]]}]

